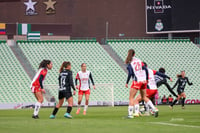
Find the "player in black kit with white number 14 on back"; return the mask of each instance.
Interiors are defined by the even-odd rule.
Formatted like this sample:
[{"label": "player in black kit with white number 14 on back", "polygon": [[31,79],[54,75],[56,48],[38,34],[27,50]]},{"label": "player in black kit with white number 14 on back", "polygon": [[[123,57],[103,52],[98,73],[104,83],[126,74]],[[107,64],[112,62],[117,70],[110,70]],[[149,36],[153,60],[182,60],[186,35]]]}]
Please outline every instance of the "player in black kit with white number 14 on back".
[{"label": "player in black kit with white number 14 on back", "polygon": [[60,71],[60,74],[58,77],[58,80],[59,80],[59,94],[58,94],[59,103],[54,108],[54,110],[50,116],[50,119],[55,118],[55,115],[58,112],[58,109],[63,105],[65,98],[68,102],[68,107],[67,107],[67,111],[66,111],[64,117],[72,118],[72,116],[70,115],[70,112],[72,111],[72,106],[73,106],[73,96],[72,96],[72,92],[71,92],[71,87],[74,90],[73,95],[76,94],[76,90],[75,90],[74,83],[73,83],[71,63],[63,62],[59,71]]}]

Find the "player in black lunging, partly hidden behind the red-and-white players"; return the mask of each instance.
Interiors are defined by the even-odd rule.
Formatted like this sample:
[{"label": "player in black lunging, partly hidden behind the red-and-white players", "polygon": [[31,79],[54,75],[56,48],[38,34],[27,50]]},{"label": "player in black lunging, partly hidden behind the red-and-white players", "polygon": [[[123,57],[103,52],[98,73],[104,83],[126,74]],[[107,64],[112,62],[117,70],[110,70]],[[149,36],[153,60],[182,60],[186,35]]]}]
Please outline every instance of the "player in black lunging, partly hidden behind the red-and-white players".
[{"label": "player in black lunging, partly hidden behind the red-and-white players", "polygon": [[[165,69],[164,68],[159,68],[159,72],[165,74]],[[166,78],[163,78],[159,75],[155,75],[155,81],[156,81],[156,85],[159,88],[161,85],[165,85],[168,89],[168,91],[174,95],[175,97],[178,97],[176,95],[176,93],[172,90],[172,88],[170,87],[170,85],[167,83],[167,79],[170,79],[170,81],[172,81],[172,79],[168,76],[166,76]]]}]

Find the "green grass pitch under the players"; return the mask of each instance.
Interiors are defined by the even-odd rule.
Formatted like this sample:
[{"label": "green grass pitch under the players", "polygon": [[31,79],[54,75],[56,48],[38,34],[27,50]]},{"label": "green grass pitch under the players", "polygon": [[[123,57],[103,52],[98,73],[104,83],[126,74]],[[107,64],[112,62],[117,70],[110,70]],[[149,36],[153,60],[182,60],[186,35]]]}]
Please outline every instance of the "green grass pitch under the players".
[{"label": "green grass pitch under the players", "polygon": [[[56,119],[49,119],[53,108],[42,108],[40,119],[31,118],[32,109],[0,110],[0,133],[200,133],[200,105],[158,107],[159,117],[126,119],[127,107],[89,107],[86,116],[63,117],[65,108]],[[172,125],[162,125],[172,124]]]}]

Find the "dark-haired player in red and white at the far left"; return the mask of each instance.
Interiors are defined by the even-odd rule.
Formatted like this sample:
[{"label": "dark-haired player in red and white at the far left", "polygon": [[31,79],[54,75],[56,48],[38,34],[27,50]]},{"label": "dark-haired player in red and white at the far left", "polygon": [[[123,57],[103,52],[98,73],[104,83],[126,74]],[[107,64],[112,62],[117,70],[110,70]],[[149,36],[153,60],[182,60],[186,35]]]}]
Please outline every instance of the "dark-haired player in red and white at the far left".
[{"label": "dark-haired player in red and white at the far left", "polygon": [[35,77],[33,78],[33,81],[31,83],[31,90],[34,93],[37,102],[35,103],[35,109],[32,118],[38,119],[38,113],[40,110],[40,106],[43,102],[43,95],[42,93],[45,93],[45,90],[43,88],[43,81],[47,75],[48,69],[51,70],[53,67],[53,64],[50,60],[43,60],[39,65],[39,70],[36,73]]}]

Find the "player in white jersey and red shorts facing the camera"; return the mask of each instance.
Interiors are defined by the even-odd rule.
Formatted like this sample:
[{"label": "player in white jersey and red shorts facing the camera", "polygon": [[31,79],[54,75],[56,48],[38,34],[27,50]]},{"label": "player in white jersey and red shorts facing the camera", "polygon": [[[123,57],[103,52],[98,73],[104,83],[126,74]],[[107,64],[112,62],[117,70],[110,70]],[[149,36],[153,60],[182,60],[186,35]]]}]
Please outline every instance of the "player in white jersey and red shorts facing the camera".
[{"label": "player in white jersey and red shorts facing the camera", "polygon": [[[80,113],[81,110],[81,101],[83,98],[83,94],[85,94],[85,107],[83,110],[83,115],[86,115],[86,111],[88,108],[89,103],[89,97],[90,97],[90,81],[92,82],[93,88],[95,89],[94,81],[92,78],[92,74],[90,71],[86,70],[86,64],[81,64],[81,71],[79,71],[76,75],[75,84],[76,88],[79,89],[78,92],[78,109],[76,111],[76,114]],[[77,80],[79,80],[79,86],[77,85]]]}]

